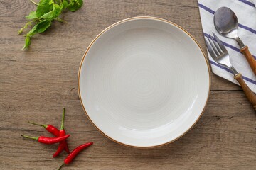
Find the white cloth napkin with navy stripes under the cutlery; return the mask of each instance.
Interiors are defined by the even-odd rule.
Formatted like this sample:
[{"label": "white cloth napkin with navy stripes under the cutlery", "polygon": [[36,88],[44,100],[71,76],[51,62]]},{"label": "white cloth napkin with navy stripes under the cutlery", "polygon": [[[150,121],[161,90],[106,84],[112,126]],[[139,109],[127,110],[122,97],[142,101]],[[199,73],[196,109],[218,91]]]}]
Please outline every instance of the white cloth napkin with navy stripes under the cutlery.
[{"label": "white cloth napkin with navy stripes under the cutlery", "polygon": [[[242,42],[248,45],[253,57],[256,56],[256,8],[255,4],[249,0],[198,0],[198,7],[201,15],[203,27],[203,35],[206,37],[210,33],[215,33],[223,42],[230,54],[230,62],[235,69],[242,74],[245,83],[256,93],[256,76],[250,69],[245,57],[240,52],[238,43],[230,38],[225,38],[217,33],[213,24],[213,15],[218,8],[226,6],[232,9],[238,16],[239,28],[238,35]],[[235,84],[238,82],[233,78],[233,74],[229,69],[217,64],[208,52],[210,65],[214,74],[217,74],[224,79],[228,79]],[[255,57],[256,59],[256,57]]]}]

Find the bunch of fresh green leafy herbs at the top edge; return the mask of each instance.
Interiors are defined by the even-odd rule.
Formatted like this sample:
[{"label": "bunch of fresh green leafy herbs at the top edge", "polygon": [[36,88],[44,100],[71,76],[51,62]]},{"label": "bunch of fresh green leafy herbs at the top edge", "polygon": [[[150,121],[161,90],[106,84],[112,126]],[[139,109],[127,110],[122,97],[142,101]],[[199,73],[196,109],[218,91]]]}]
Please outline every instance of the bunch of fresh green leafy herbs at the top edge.
[{"label": "bunch of fresh green leafy herbs at the top edge", "polygon": [[66,21],[59,18],[64,10],[75,12],[80,9],[83,4],[82,0],[40,0],[38,4],[33,0],[31,0],[31,2],[37,5],[36,11],[31,11],[31,13],[26,16],[28,22],[18,31],[18,34],[21,34],[28,26],[33,25],[33,28],[24,35],[25,45],[23,49],[31,45],[33,35],[46,31],[53,21],[57,20],[66,23]]}]

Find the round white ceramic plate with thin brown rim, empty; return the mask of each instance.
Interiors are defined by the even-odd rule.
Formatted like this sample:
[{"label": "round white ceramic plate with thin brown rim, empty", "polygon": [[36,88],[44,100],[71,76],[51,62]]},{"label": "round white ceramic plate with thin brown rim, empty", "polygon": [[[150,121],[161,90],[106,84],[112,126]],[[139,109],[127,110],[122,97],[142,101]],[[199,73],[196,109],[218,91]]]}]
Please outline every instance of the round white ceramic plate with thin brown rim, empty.
[{"label": "round white ceramic plate with thin brown rim, empty", "polygon": [[128,18],[102,31],[78,74],[80,101],[103,135],[156,147],[184,135],[208,101],[210,73],[196,40],[154,17]]}]

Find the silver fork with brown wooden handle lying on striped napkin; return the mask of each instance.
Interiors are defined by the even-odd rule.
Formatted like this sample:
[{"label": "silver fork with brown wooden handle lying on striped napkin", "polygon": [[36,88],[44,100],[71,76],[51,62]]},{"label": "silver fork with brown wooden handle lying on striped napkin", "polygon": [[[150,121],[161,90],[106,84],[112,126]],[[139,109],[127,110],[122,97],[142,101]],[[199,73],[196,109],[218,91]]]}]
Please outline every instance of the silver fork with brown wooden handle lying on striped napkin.
[{"label": "silver fork with brown wooden handle lying on striped napkin", "polygon": [[245,96],[247,96],[250,103],[252,103],[253,108],[256,111],[256,95],[251,91],[251,89],[245,84],[245,81],[242,79],[242,74],[238,73],[233,65],[230,63],[230,55],[228,54],[227,49],[220,41],[220,39],[213,33],[213,37],[209,35],[206,39],[206,47],[210,52],[210,56],[213,58],[215,62],[222,65],[225,68],[230,69],[230,71],[234,74],[234,79],[238,81],[242,90],[245,92]]}]

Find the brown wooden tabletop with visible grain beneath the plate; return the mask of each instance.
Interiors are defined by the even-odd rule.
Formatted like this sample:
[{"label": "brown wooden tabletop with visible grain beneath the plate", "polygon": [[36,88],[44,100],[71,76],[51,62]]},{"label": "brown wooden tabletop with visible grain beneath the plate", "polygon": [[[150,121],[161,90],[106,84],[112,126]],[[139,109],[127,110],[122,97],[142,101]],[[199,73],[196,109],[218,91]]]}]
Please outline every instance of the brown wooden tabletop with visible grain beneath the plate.
[{"label": "brown wooden tabletop with visible grain beneath the plate", "polygon": [[212,77],[203,117],[181,139],[155,149],[134,149],[102,136],[89,122],[78,97],[78,67],[101,30],[124,18],[156,16],[193,35],[206,52],[196,0],[85,0],[81,10],[64,13],[68,24],[53,23],[22,51],[18,35],[30,1],[0,0],[0,169],[57,169],[67,154],[53,159],[57,145],[23,140],[21,134],[48,135],[28,120],[65,127],[70,149],[95,145],[63,169],[256,169],[256,114],[239,86]]}]

